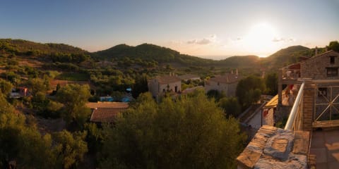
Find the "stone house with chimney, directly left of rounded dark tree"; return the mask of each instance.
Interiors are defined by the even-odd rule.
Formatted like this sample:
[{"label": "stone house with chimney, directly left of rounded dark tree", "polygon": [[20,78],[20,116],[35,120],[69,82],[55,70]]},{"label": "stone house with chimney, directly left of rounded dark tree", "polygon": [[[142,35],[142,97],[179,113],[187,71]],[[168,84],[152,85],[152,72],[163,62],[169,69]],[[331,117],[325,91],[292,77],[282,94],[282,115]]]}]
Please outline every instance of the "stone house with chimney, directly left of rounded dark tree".
[{"label": "stone house with chimney, directly left of rounded dark tree", "polygon": [[238,73],[227,73],[225,75],[215,76],[206,81],[205,91],[217,90],[218,92],[224,92],[226,96],[235,96],[238,81]]}]

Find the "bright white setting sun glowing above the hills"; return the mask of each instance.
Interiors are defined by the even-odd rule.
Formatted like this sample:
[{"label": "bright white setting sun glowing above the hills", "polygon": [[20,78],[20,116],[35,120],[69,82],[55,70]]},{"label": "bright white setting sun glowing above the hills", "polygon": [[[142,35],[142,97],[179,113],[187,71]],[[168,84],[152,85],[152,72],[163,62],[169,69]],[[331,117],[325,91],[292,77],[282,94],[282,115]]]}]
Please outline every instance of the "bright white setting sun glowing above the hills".
[{"label": "bright white setting sun glowing above the hills", "polygon": [[278,32],[268,23],[253,25],[245,37],[246,47],[258,56],[264,56],[273,50],[273,39],[278,37]]}]

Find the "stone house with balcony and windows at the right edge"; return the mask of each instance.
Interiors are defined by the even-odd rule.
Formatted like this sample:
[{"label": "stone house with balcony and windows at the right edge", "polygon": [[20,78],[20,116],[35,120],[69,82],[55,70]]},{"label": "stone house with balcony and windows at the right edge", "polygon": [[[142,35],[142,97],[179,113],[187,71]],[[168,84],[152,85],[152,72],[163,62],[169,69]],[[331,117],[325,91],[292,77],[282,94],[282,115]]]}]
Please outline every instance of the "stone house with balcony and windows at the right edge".
[{"label": "stone house with balcony and windows at the right edge", "polygon": [[[313,127],[317,124],[326,124],[324,121],[339,119],[339,53],[326,51],[316,54],[305,61],[281,68],[278,79],[278,104],[284,106],[284,100],[294,99],[297,96],[300,84],[307,81],[311,96],[310,117]],[[283,92],[283,85],[287,85]],[[292,97],[292,98],[291,98]],[[286,99],[287,100],[287,99]],[[286,105],[285,105],[286,106]],[[338,121],[339,124],[339,121]],[[312,127],[309,126],[309,127]]]}]

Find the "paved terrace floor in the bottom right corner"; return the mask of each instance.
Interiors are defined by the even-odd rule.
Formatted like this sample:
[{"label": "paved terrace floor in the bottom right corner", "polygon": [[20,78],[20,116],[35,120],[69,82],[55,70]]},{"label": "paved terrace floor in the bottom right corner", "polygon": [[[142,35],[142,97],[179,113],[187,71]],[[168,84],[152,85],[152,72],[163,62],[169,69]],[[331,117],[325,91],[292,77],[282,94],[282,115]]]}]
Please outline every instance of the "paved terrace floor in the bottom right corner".
[{"label": "paved terrace floor in the bottom right corner", "polygon": [[316,168],[339,168],[339,130],[314,131],[310,154],[316,155]]}]

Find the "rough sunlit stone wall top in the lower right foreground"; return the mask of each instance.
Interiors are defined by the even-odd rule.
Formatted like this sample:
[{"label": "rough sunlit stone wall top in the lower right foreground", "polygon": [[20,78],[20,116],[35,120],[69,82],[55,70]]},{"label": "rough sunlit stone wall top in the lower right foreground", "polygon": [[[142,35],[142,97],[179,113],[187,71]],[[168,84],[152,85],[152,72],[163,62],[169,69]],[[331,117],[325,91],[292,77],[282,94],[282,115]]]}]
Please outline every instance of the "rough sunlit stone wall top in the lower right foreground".
[{"label": "rough sunlit stone wall top in the lower right foreground", "polygon": [[308,168],[309,132],[263,125],[237,157],[239,169]]}]

